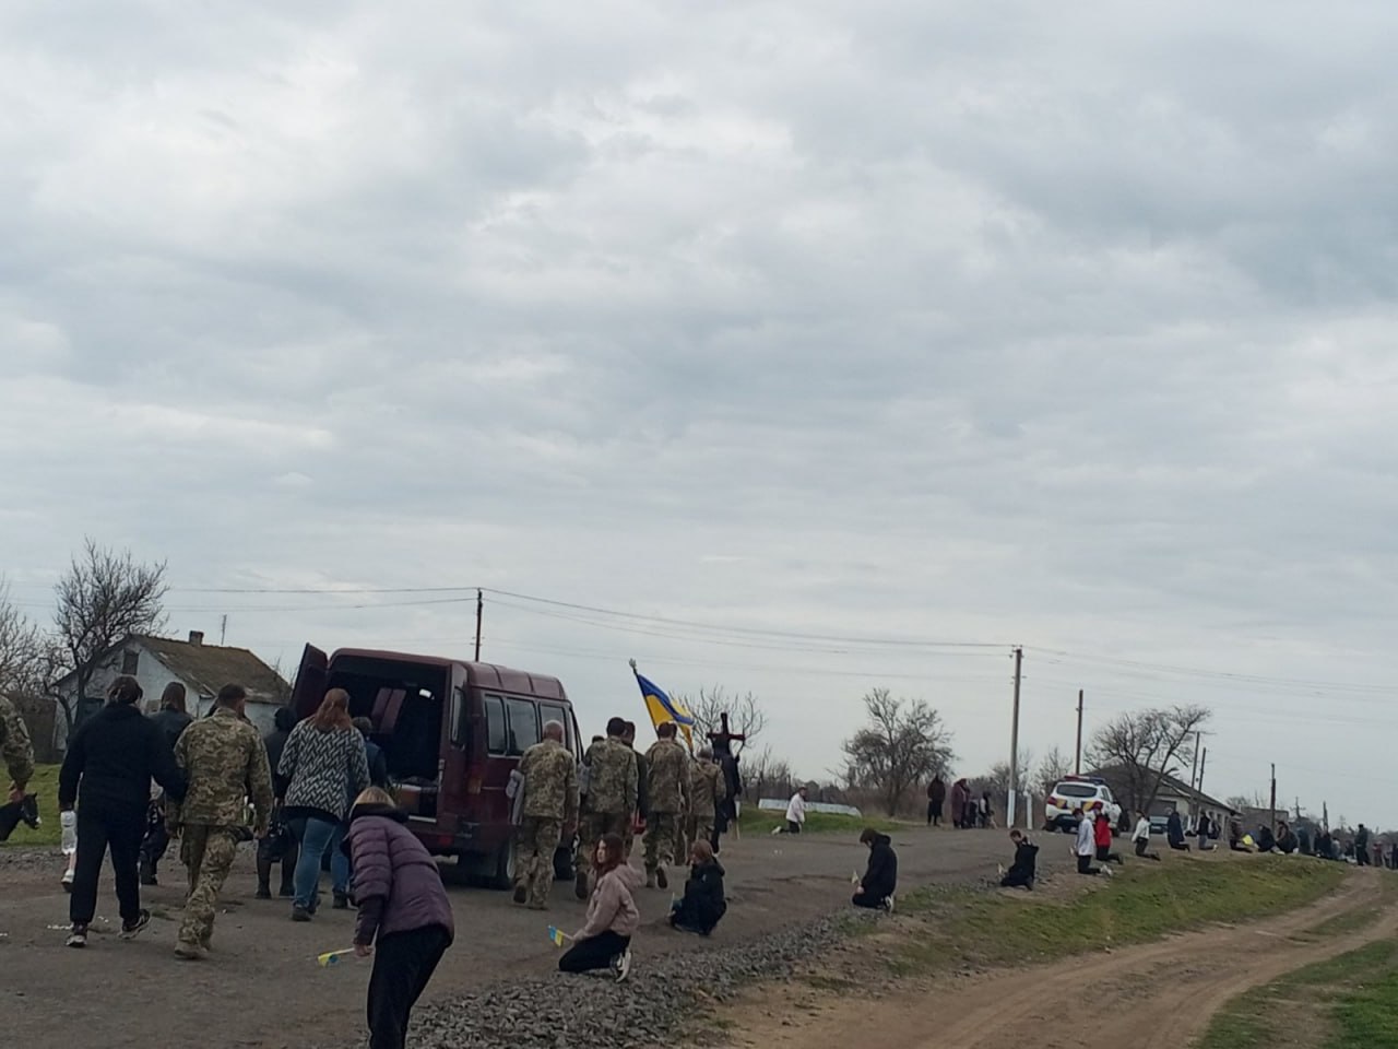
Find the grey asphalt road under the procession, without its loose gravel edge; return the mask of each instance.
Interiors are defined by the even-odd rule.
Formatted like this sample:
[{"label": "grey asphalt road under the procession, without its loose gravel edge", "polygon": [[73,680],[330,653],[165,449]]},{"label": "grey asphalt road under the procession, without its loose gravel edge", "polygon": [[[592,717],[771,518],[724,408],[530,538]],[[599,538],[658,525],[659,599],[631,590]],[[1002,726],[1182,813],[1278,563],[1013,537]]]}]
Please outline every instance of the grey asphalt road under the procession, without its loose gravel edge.
[{"label": "grey asphalt road under the procession, without its loose gravel edge", "polygon": [[[962,883],[994,873],[1009,849],[1002,832],[931,832],[909,828],[895,835],[905,887]],[[1047,852],[1047,850],[1046,850]],[[1055,850],[1057,852],[1057,850]],[[653,952],[721,950],[800,919],[844,906],[850,871],[867,852],[857,841],[747,838],[724,848],[731,905],[713,940],[678,937],[664,927],[668,892],[647,892],[644,926],[636,941],[639,972]],[[1062,857],[1067,860],[1067,855]],[[0,852],[0,971],[6,1043],[29,1049],[122,1046],[296,1046],[306,1041],[356,1045],[362,1031],[366,965],[319,969],[316,954],[350,944],[351,912],[323,911],[312,925],[288,920],[284,901],[253,897],[247,855],[225,891],[214,954],[207,962],[176,962],[175,922],[183,902],[182,869],[166,863],[159,888],[145,904],[157,915],[141,940],[116,939],[116,901],[110,871],[103,873],[98,915],[87,951],[63,947],[67,897],[57,885],[57,857],[18,862]],[[677,871],[678,873],[678,871]],[[556,951],[544,929],[582,925],[583,905],[559,883],[554,909],[540,916],[510,905],[507,894],[452,888],[457,943],[449,951],[428,997],[450,996],[514,973],[552,966]],[[327,901],[329,904],[329,901]]]}]

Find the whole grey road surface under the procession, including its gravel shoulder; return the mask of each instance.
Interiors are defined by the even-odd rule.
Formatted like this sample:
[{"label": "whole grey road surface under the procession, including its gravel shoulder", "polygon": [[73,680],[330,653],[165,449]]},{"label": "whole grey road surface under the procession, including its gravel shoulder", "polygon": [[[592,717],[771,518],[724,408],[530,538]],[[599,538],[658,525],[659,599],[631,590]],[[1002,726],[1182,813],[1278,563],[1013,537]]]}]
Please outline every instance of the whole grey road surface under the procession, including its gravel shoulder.
[{"label": "whole grey road surface under the procession, including its gravel shoulder", "polygon": [[[995,831],[927,831],[893,835],[900,888],[983,884],[1005,862]],[[1067,862],[1067,839],[1044,835],[1048,866]],[[1053,848],[1062,845],[1061,849]],[[1058,857],[1058,853],[1062,853]],[[830,915],[847,909],[850,874],[867,852],[854,836],[749,836],[723,853],[730,908],[710,939],[664,925],[670,892],[642,892],[632,983],[554,972],[552,923],[582,925],[583,904],[558,883],[547,915],[516,908],[509,895],[452,887],[457,941],[419,1004],[411,1045],[577,1045],[597,1029],[621,1028],[612,1043],[644,1045],[663,1036],[682,992],[723,996],[731,985],[781,975],[797,957],[835,941]],[[1062,863],[1057,862],[1058,859]],[[110,873],[103,874],[99,920],[85,951],[63,945],[67,895],[57,884],[57,853],[0,849],[0,964],[7,1043],[29,1049],[140,1046],[355,1046],[363,1032],[366,962],[317,968],[322,951],[350,945],[351,912],[323,909],[310,925],[288,920],[284,901],[253,899],[250,852],[239,856],[224,892],[224,913],[206,962],[178,962],[175,929],[183,902],[178,863],[162,864],[164,884],[147,890],[157,920],[134,943],[119,926]],[[681,881],[677,870],[672,884]],[[326,901],[329,904],[329,901]],[[105,919],[105,920],[101,920]],[[596,1017],[596,1021],[594,1018]],[[619,1022],[618,1022],[619,1021]]]}]

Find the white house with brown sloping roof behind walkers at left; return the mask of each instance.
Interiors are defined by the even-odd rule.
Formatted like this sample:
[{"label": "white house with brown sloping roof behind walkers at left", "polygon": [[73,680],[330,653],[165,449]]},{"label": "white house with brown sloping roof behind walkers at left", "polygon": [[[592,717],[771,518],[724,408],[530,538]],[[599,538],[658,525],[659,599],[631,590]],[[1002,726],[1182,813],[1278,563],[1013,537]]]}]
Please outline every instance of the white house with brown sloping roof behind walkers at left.
[{"label": "white house with brown sloping roof behind walkers at left", "polygon": [[[179,681],[185,685],[186,706],[196,718],[210,712],[219,688],[239,684],[247,690],[247,719],[259,732],[270,732],[277,708],[291,699],[291,685],[247,649],[206,645],[199,631],[190,631],[189,641],[133,634],[102,656],[77,706],[78,723],[102,706],[106,690],[123,674],[140,683],[147,711],[159,706],[165,685]],[[59,683],[59,691],[70,699],[75,690],[77,674]],[[67,745],[67,722],[62,716],[55,719],[53,744],[60,751]]]}]

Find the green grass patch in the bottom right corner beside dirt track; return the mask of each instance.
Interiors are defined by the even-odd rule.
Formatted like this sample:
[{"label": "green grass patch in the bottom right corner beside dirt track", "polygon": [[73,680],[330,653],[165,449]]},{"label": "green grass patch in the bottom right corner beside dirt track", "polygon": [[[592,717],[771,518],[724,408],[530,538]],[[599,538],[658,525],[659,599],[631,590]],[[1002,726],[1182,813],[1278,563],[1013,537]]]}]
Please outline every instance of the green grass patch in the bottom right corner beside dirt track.
[{"label": "green grass patch in the bottom right corner beside dirt track", "polygon": [[1398,943],[1380,940],[1233,999],[1197,1049],[1398,1045]]}]

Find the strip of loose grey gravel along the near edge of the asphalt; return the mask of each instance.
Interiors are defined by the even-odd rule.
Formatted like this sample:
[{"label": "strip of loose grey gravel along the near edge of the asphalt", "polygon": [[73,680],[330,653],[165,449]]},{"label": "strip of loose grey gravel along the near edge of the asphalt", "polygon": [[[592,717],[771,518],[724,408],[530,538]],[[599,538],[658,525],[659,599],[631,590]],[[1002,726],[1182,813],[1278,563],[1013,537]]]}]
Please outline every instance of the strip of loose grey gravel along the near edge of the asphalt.
[{"label": "strip of loose grey gravel along the near edge of the asphalt", "polygon": [[[626,983],[617,983],[610,973],[552,973],[482,987],[414,1010],[411,1043],[424,1049],[633,1049],[664,1043],[672,1041],[681,1024],[693,1020],[696,1006],[726,1001],[756,983],[788,978],[802,959],[837,950],[851,923],[872,919],[872,913],[846,913],[744,944],[714,943],[700,951],[636,958]],[[682,1041],[693,1038],[686,1034]]]}]

